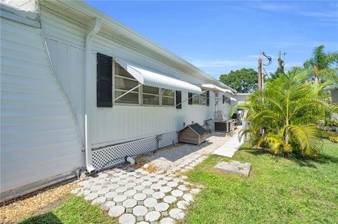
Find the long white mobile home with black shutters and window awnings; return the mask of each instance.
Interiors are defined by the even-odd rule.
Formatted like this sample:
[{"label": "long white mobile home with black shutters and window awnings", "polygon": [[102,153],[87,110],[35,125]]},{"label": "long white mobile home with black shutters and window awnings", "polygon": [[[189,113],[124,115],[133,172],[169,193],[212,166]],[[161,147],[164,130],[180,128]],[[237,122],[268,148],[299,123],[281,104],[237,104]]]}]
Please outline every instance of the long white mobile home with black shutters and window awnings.
[{"label": "long white mobile home with black shutters and window awnings", "polygon": [[177,142],[234,93],[82,2],[1,3],[1,200]]}]

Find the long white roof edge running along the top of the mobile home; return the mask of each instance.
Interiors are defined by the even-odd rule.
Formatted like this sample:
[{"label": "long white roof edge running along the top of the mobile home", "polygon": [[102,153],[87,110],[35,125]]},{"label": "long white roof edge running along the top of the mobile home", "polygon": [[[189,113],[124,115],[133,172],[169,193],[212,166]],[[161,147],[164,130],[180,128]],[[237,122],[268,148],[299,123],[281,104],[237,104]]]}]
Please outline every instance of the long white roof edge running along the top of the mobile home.
[{"label": "long white roof edge running along the top of the mobile home", "polygon": [[154,41],[151,41],[150,39],[144,37],[142,34],[135,32],[129,27],[123,25],[122,23],[114,20],[110,16],[102,13],[101,11],[96,10],[96,8],[89,6],[88,4],[82,1],[60,1],[58,0],[58,3],[68,6],[70,8],[74,8],[76,11],[79,11],[80,13],[84,13],[85,15],[89,15],[92,18],[99,17],[103,21],[105,21],[108,26],[112,26],[115,29],[119,29],[121,32],[125,33],[126,35],[129,35],[129,37],[132,37],[134,41],[139,41],[145,46],[151,48],[153,51],[161,53],[168,58],[172,58],[173,60],[183,62],[185,65],[190,67],[190,69],[195,70],[196,72],[198,72],[199,75],[203,76],[204,79],[208,79],[215,84],[220,84],[224,88],[230,89],[230,91],[232,91],[233,93],[237,92],[233,88],[230,88],[229,86],[221,83],[217,79],[214,79],[213,77],[211,77],[211,75],[199,69],[199,67],[196,67],[195,65],[192,65],[192,63],[188,62],[187,60],[184,60],[184,58],[181,58],[180,56],[175,55],[175,53],[170,52],[168,49],[163,48],[162,46],[156,44]]}]

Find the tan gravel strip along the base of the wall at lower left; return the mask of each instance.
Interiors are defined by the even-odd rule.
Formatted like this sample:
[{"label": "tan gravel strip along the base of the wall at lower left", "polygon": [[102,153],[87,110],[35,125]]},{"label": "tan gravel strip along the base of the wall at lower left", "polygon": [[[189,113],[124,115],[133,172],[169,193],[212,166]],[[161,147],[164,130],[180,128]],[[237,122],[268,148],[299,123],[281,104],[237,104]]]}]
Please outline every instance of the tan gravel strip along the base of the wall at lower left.
[{"label": "tan gravel strip along the base of the wall at lower left", "polygon": [[1,204],[0,223],[14,223],[33,213],[46,213],[64,202],[69,192],[76,187],[77,183],[67,183],[19,197],[9,204]]}]

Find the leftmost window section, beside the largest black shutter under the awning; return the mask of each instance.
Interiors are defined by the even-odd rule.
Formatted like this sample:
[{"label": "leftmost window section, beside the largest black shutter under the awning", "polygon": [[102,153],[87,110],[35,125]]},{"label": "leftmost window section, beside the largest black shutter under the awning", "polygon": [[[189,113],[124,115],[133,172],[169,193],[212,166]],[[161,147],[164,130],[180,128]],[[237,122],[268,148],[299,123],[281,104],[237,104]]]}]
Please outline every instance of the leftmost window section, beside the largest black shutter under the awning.
[{"label": "leftmost window section, beside the largest black shutter under the awning", "polygon": [[[120,95],[123,95],[127,91],[130,91],[130,89],[138,86],[139,82],[118,63],[115,62],[114,65],[115,98],[118,98]],[[135,88],[133,91],[127,93],[122,98],[115,100],[115,102],[139,104],[139,88]]]}]

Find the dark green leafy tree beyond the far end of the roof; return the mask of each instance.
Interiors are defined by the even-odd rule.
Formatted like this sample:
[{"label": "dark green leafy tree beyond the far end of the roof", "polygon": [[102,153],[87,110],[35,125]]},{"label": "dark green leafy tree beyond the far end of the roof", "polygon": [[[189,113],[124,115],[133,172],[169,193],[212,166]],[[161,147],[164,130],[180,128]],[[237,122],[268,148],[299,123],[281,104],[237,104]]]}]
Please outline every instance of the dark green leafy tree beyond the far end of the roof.
[{"label": "dark green leafy tree beyond the far end of the roof", "polygon": [[252,68],[242,68],[242,70],[231,71],[229,74],[221,74],[220,81],[239,93],[248,93],[257,88],[258,74]]}]

